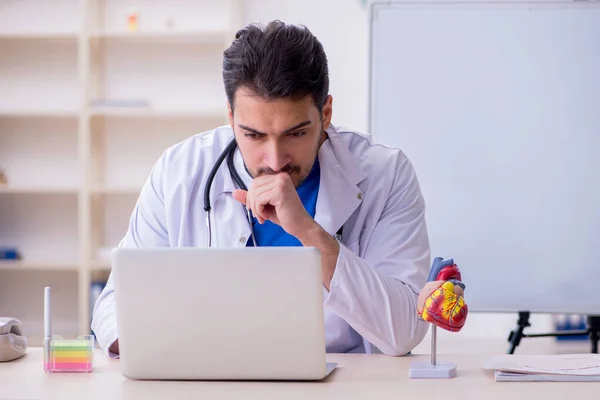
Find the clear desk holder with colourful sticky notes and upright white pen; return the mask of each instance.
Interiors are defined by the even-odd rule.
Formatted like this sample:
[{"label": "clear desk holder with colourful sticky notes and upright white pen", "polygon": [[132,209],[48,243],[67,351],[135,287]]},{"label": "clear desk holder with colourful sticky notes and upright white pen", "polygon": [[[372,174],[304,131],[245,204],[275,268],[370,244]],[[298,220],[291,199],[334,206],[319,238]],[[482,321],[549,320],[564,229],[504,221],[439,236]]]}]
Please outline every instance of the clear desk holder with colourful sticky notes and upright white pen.
[{"label": "clear desk holder with colourful sticky notes and upright white pen", "polygon": [[50,288],[44,288],[44,371],[92,372],[94,335],[77,339],[53,336],[50,320]]}]

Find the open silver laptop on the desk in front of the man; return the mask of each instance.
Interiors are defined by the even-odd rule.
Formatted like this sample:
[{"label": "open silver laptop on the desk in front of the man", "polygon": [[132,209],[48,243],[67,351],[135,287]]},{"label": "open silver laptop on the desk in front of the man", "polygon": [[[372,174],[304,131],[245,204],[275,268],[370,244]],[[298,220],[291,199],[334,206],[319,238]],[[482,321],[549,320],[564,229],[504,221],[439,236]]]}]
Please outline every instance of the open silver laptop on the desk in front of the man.
[{"label": "open silver laptop on the desk in front of the man", "polygon": [[117,248],[112,265],[127,378],[321,380],[336,366],[315,248]]}]

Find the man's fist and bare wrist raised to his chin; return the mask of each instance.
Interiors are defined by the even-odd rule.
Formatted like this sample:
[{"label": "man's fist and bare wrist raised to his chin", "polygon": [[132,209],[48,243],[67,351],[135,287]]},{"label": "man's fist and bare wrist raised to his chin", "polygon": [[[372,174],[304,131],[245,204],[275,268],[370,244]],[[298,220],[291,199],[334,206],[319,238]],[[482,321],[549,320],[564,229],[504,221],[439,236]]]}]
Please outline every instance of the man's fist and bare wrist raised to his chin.
[{"label": "man's fist and bare wrist raised to his chin", "polygon": [[323,285],[329,290],[340,245],[306,212],[287,173],[259,176],[252,181],[247,192],[234,191],[233,198],[252,211],[260,224],[271,221],[295,236],[303,246],[319,249]]}]

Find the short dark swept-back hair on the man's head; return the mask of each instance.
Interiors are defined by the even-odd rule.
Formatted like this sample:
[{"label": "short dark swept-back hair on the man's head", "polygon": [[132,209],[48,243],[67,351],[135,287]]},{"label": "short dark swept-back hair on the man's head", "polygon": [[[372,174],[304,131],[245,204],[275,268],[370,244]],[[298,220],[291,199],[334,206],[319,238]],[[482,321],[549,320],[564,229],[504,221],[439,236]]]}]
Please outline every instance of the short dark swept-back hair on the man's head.
[{"label": "short dark swept-back hair on the man's head", "polygon": [[250,24],[223,53],[223,83],[232,109],[236,90],[247,87],[266,100],[311,95],[321,111],[329,94],[327,57],[304,26]]}]

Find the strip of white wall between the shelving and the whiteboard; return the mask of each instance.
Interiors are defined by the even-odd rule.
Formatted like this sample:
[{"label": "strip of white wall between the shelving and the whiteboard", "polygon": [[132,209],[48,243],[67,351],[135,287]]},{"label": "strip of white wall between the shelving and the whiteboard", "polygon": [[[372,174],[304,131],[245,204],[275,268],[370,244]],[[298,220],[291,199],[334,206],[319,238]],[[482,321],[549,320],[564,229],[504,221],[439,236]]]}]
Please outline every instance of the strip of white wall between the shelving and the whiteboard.
[{"label": "strip of white wall between the shelving and the whiteboard", "polygon": [[368,9],[361,0],[246,0],[242,23],[305,25],[329,63],[333,124],[367,130]]}]

